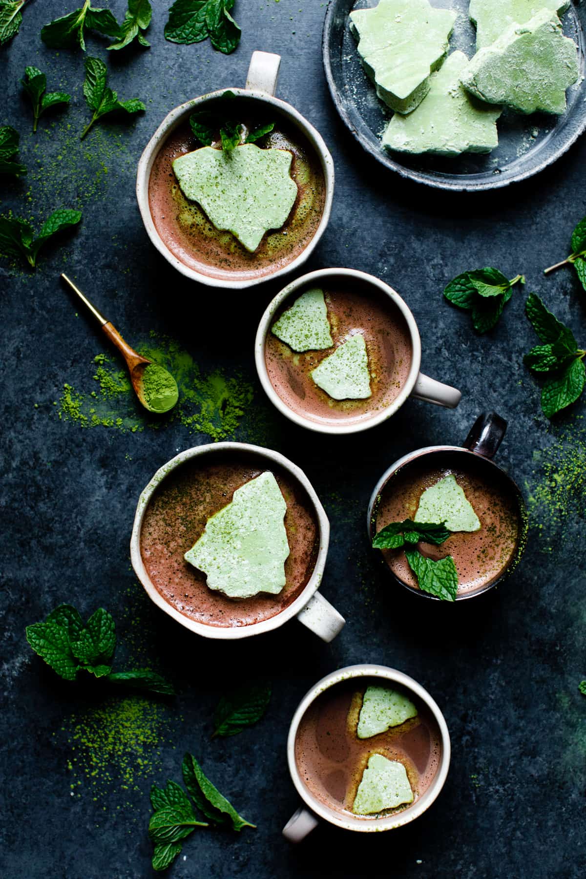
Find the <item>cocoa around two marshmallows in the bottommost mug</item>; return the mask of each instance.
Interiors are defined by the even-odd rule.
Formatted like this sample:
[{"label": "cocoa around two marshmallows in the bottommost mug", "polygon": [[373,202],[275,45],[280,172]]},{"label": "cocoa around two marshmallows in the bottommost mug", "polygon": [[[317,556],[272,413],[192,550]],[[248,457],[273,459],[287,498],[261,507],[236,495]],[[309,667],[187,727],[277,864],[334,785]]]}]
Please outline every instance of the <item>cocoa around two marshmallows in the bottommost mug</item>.
[{"label": "cocoa around two marshmallows in the bottommost mug", "polygon": [[[378,736],[358,738],[358,715],[366,687],[386,685],[380,678],[355,678],[330,686],[307,708],[295,737],[295,761],[310,793],[336,812],[365,820],[380,816],[356,816],[351,809],[371,754],[382,754],[405,766],[414,803],[430,787],[442,755],[438,723],[430,709],[392,681],[388,681],[389,688],[408,696],[418,715]],[[405,809],[409,805],[381,815]]]}]

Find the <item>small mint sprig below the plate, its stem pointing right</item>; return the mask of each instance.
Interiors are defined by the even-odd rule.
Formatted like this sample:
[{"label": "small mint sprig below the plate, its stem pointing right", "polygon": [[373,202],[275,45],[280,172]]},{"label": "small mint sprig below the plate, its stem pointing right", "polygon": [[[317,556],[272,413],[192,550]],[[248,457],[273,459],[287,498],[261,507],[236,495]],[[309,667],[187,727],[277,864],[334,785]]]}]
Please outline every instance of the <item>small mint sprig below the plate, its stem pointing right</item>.
[{"label": "small mint sprig below the plate, its stem pointing right", "polygon": [[508,280],[503,272],[487,266],[457,275],[445,287],[444,295],[452,305],[471,311],[474,329],[483,333],[496,326],[517,283],[525,284],[525,276]]}]

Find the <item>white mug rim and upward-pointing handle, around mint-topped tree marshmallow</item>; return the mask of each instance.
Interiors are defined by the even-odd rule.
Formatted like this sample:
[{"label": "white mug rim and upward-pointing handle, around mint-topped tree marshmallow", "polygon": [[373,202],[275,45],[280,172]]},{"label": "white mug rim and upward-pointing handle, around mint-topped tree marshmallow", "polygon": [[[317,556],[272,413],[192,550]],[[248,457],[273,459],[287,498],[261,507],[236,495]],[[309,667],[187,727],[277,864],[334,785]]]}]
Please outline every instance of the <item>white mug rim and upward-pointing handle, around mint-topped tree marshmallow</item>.
[{"label": "white mug rim and upward-pointing handle, around mint-topped tree marshmallow", "polygon": [[[138,163],[138,170],[136,173],[136,198],[138,200],[142,222],[147,230],[148,237],[155,245],[157,251],[159,251],[159,253],[161,253],[163,257],[177,269],[177,272],[181,272],[187,278],[197,280],[201,284],[207,284],[210,287],[222,287],[222,289],[242,289],[243,287],[256,286],[265,280],[273,280],[274,278],[279,277],[279,275],[286,274],[287,272],[294,272],[309,257],[328,225],[332,199],[334,196],[334,162],[329,155],[329,149],[323,142],[321,134],[315,130],[313,125],[301,116],[293,106],[287,104],[286,101],[274,97],[277,88],[280,62],[281,59],[278,54],[253,52],[250,59],[248,76],[246,77],[246,87],[244,89],[230,86],[227,89],[221,89],[220,91],[211,91],[206,95],[201,95],[199,98],[193,98],[191,101],[187,101],[185,104],[171,110],[171,112],[165,116],[161,125],[156,129],[155,134],[151,137]],[[307,243],[307,246],[300,252],[297,258],[293,259],[290,263],[287,263],[287,265],[276,269],[274,272],[268,272],[262,277],[234,280],[231,280],[229,277],[218,278],[213,277],[212,275],[207,275],[204,272],[198,272],[185,265],[169,250],[165,243],[163,243],[163,239],[156,230],[155,223],[153,222],[150,213],[150,207],[148,205],[148,181],[159,149],[163,147],[164,142],[167,140],[171,132],[184,123],[194,110],[206,109],[206,104],[209,104],[209,102],[214,99],[220,98],[225,91],[232,91],[236,97],[243,97],[248,100],[254,99],[259,104],[265,105],[264,114],[267,118],[270,118],[270,116],[274,115],[276,112],[284,116],[289,122],[292,122],[293,126],[300,130],[301,134],[307,138],[307,141],[313,149],[315,149],[315,155],[319,158],[322,165],[323,179],[325,183],[325,201],[322,220],[315,230],[315,235],[311,241]]]}]

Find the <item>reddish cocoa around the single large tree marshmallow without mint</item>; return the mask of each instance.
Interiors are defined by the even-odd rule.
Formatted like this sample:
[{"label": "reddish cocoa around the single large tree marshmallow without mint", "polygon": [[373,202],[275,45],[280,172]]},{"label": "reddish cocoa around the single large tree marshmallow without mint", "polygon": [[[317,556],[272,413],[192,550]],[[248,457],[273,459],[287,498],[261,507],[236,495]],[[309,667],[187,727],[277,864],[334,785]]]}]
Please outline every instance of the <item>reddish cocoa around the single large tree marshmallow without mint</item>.
[{"label": "reddish cocoa around the single large tree marshmallow without mint", "polygon": [[[148,577],[171,607],[208,626],[250,626],[279,614],[307,585],[319,549],[319,526],[306,490],[286,470],[267,468],[255,454],[205,454],[163,479],[142,520],[141,556]],[[285,527],[291,550],[286,585],[279,595],[228,599],[207,588],[206,575],[184,553],[203,534],[206,521],[228,505],[237,488],[267,469],[286,500]]]}]

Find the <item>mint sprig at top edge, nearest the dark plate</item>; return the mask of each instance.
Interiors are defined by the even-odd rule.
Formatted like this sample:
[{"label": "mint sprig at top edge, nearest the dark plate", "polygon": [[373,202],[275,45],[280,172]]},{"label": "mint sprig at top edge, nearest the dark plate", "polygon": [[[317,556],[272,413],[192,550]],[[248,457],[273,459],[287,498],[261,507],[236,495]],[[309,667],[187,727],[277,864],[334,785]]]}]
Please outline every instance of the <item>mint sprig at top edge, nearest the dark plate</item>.
[{"label": "mint sprig at top edge, nearest the dark plate", "polygon": [[199,43],[210,38],[214,49],[234,52],[240,27],[229,10],[234,0],[176,0],[169,10],[165,39],[172,43]]}]

